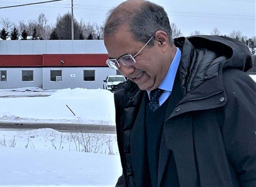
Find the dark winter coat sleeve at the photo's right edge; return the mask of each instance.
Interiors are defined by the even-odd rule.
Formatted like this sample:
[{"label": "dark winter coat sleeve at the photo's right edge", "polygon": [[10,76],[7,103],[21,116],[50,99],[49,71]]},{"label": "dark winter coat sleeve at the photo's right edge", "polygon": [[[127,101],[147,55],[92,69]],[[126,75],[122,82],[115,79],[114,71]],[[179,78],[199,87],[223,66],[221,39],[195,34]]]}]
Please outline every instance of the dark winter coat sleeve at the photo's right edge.
[{"label": "dark winter coat sleeve at the photo's right edge", "polygon": [[245,72],[223,72],[227,103],[222,136],[227,158],[243,187],[256,186],[256,83]]}]

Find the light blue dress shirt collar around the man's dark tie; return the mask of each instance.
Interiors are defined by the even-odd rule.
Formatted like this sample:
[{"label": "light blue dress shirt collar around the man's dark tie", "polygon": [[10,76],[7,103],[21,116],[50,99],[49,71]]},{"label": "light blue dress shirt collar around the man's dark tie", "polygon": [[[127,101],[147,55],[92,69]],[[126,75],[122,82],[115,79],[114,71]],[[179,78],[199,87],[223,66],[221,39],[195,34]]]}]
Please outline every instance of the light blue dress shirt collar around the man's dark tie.
[{"label": "light blue dress shirt collar around the man's dark tie", "polygon": [[[181,60],[181,50],[178,47],[176,48],[177,48],[177,51],[169,67],[169,70],[167,71],[167,74],[165,75],[161,84],[158,86],[158,88],[164,90],[164,92],[159,98],[160,106],[168,99],[168,97],[172,93],[175,76]],[[150,99],[150,91],[147,91],[147,93],[148,93],[148,98]]]}]

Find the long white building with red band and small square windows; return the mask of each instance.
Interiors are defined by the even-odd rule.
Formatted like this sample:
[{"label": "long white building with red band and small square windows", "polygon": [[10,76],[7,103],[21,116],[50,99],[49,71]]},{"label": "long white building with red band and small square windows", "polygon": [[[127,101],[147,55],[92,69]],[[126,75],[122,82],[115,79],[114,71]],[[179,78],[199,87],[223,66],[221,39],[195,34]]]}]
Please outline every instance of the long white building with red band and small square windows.
[{"label": "long white building with red band and small square windows", "polygon": [[0,89],[103,88],[107,58],[103,40],[0,41]]}]

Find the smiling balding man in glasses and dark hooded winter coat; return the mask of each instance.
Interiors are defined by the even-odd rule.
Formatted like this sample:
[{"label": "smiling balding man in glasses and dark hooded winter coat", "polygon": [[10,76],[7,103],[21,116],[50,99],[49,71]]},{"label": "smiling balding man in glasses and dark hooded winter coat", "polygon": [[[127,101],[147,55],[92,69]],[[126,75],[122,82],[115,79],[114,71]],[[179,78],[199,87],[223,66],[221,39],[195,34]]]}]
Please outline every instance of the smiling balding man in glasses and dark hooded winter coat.
[{"label": "smiling balding man in glasses and dark hooded winter coat", "polygon": [[256,186],[256,84],[248,48],[220,36],[172,38],[164,9],[130,0],[104,27],[123,174],[117,187]]}]

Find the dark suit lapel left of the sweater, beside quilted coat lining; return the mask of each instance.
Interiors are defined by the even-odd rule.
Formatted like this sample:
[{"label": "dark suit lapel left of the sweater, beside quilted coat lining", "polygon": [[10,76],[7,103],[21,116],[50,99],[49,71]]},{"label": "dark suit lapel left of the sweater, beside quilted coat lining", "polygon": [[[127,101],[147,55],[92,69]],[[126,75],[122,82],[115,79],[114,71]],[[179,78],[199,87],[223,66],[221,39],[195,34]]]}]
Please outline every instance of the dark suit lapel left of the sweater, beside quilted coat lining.
[{"label": "dark suit lapel left of the sweater, beside quilted coat lining", "polygon": [[145,173],[145,107],[147,97],[147,92],[144,91],[138,116],[131,132],[131,160],[136,186],[143,186],[143,177]]}]

